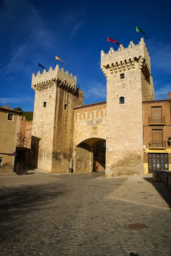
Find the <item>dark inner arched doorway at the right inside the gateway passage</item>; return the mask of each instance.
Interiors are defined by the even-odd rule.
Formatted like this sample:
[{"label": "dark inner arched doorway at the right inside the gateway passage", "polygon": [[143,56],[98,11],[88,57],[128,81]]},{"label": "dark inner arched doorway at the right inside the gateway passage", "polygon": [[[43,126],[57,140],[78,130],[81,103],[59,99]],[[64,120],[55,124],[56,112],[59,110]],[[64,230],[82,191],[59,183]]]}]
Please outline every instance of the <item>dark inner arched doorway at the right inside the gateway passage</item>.
[{"label": "dark inner arched doorway at the right inside the gateway passage", "polygon": [[106,143],[101,142],[93,151],[93,172],[104,172],[106,165]]}]

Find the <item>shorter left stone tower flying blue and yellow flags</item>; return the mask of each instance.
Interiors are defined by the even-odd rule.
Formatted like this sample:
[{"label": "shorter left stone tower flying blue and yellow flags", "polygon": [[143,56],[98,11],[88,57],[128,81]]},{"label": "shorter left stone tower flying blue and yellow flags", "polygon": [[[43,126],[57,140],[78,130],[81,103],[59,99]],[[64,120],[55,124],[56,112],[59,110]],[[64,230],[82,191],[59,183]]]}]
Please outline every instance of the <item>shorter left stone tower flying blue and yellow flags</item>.
[{"label": "shorter left stone tower flying blue and yellow flags", "polygon": [[56,65],[32,75],[35,105],[30,166],[48,172],[68,172],[73,144],[73,107],[83,105],[84,94],[64,68]]}]

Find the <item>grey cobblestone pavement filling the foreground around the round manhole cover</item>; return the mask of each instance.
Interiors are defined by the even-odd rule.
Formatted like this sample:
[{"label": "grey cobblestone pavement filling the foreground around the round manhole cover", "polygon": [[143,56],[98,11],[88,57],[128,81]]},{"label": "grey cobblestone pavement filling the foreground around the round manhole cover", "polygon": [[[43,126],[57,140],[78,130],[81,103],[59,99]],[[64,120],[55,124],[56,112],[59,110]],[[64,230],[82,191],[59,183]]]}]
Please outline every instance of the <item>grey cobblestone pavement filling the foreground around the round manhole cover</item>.
[{"label": "grey cobblestone pavement filling the foreground around the round manhole cover", "polygon": [[171,255],[171,211],[108,198],[127,178],[102,175],[0,176],[0,255]]}]

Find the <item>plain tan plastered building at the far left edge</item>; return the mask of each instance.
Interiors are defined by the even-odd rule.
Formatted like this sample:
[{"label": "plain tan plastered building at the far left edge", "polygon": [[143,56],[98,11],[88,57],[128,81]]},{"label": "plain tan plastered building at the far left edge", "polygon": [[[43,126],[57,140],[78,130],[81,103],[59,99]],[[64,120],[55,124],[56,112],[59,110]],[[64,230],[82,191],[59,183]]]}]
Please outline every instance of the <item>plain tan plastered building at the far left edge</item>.
[{"label": "plain tan plastered building at the far left edge", "polygon": [[0,107],[0,172],[14,171],[19,116],[20,111]]}]

